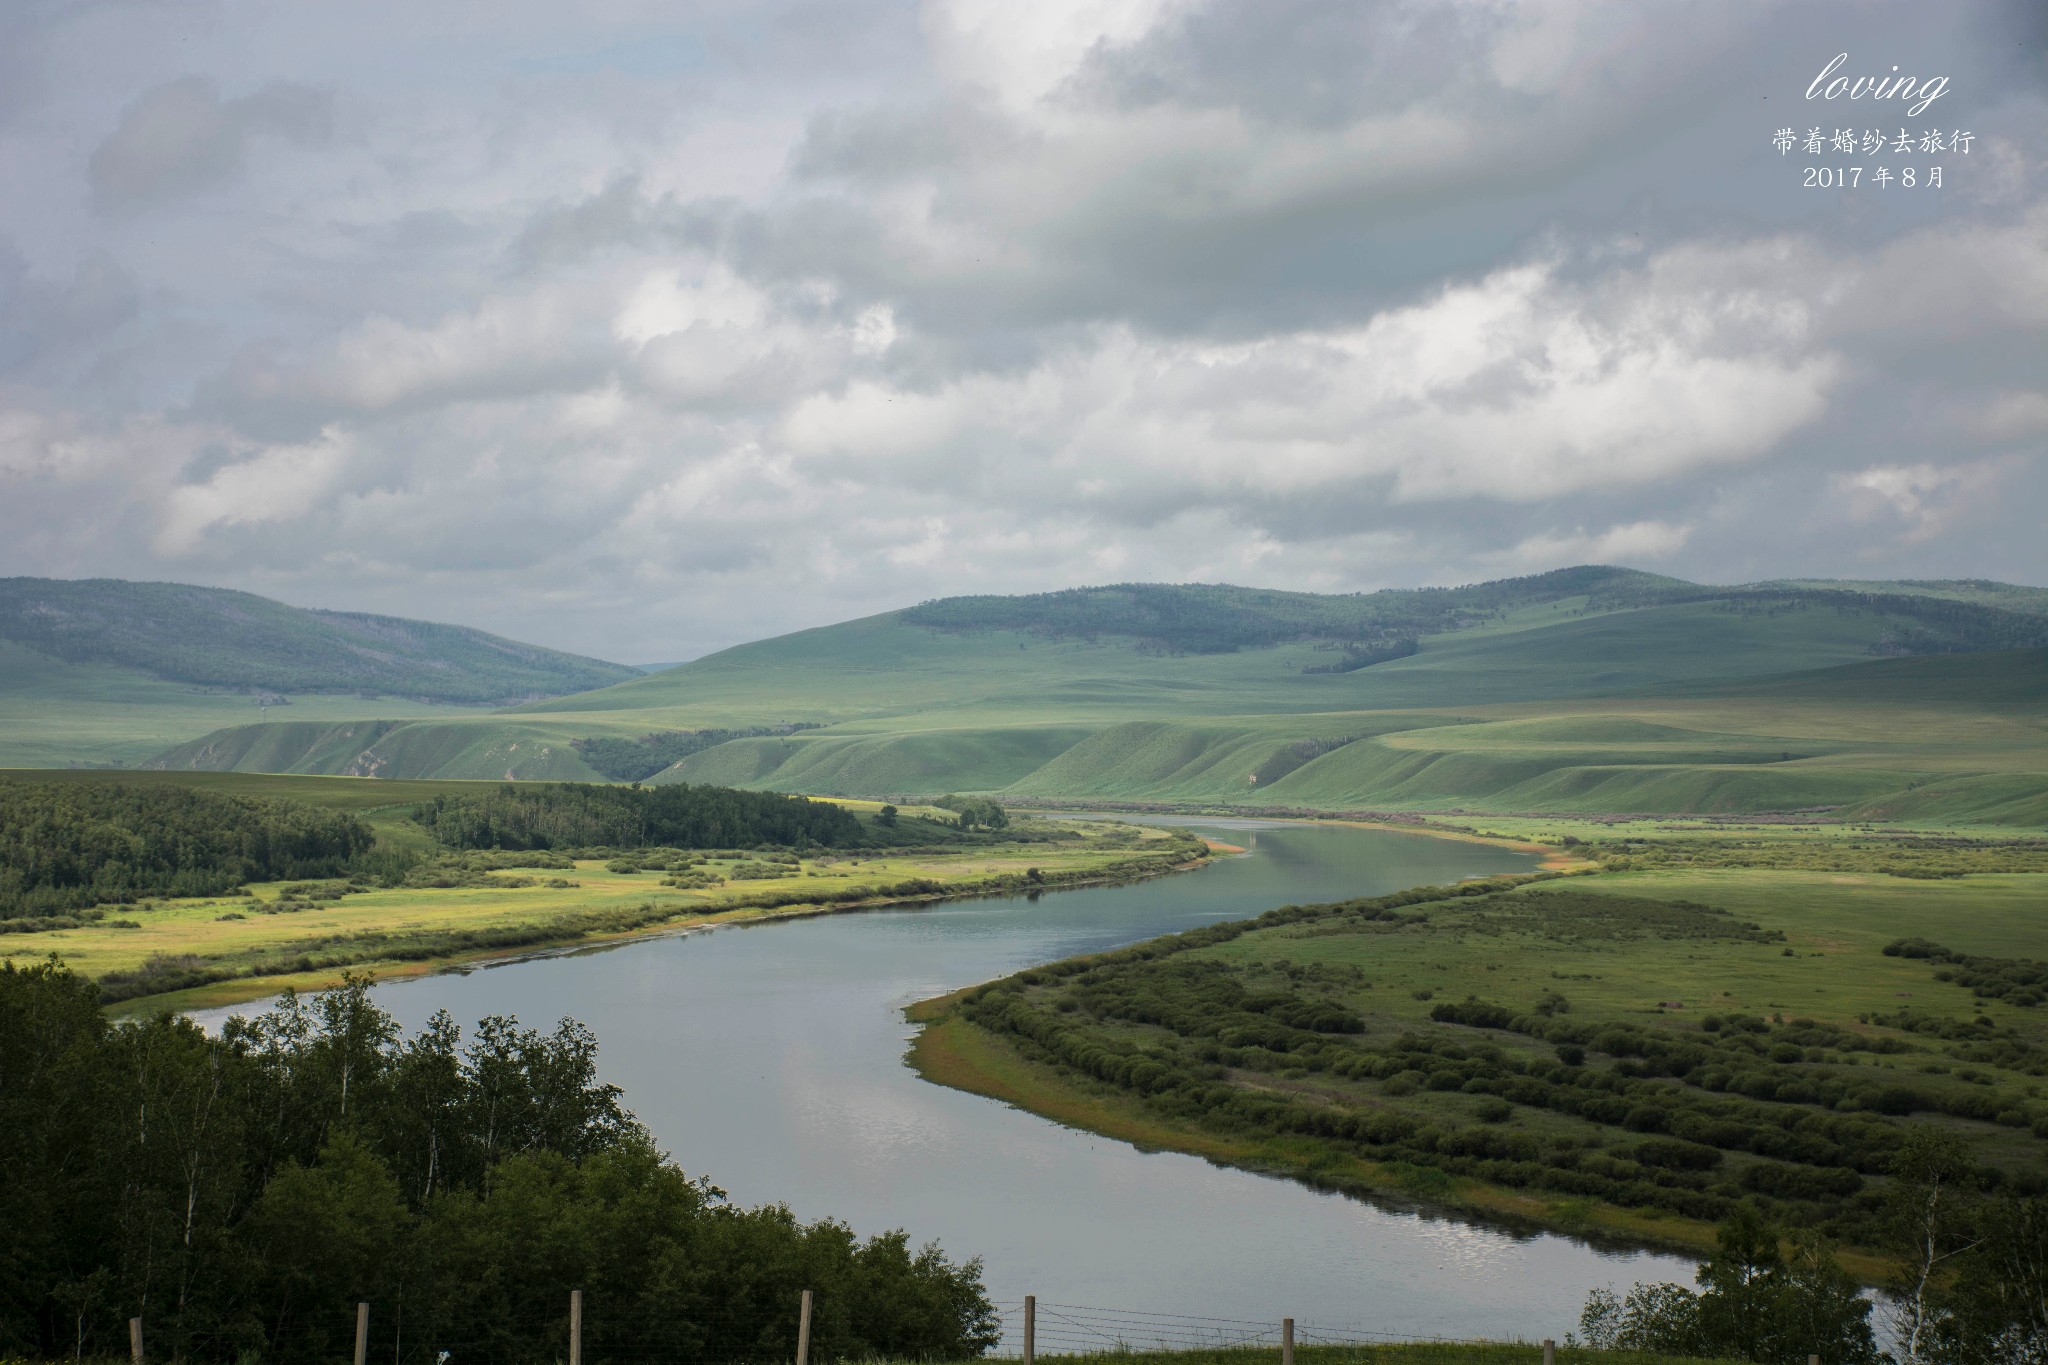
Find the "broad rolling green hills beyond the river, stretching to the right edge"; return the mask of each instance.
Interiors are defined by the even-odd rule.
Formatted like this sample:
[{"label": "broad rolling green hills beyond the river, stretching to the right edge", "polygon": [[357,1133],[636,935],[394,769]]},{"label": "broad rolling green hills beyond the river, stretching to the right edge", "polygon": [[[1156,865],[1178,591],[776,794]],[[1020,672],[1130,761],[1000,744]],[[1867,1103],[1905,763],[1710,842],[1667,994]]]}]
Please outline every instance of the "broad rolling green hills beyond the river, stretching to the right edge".
[{"label": "broad rolling green hills beyond the river, stretching to the right edge", "polygon": [[[950,598],[494,714],[252,724],[160,763],[592,780],[586,753],[651,737],[649,753],[686,753],[657,784],[2030,825],[2048,823],[2040,600],[1624,569],[1358,596]],[[678,737],[743,729],[778,733]]]}]

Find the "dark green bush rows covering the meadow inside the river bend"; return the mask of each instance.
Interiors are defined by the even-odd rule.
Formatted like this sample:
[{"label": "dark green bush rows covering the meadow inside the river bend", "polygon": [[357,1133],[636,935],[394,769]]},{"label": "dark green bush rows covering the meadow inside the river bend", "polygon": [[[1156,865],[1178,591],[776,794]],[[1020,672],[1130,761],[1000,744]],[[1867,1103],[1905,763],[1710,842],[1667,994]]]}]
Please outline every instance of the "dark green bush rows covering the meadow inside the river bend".
[{"label": "dark green bush rows covering the meadow inside the river bend", "polygon": [[[1931,1111],[2019,1128],[2048,1119],[2011,1087],[1860,1064],[1909,1044],[1815,1019],[1583,1019],[1552,990],[1522,1005],[1442,1001],[1430,1011],[1438,1027],[1395,1025],[1346,1003],[1368,986],[1356,968],[1190,956],[1274,925],[1311,939],[1403,933],[1425,923],[1430,913],[1415,909],[1423,902],[1456,907],[1460,933],[1534,917],[1565,941],[1774,939],[1704,905],[1497,890],[1288,907],[1022,972],[971,993],[963,1009],[1026,1056],[1143,1097],[1161,1115],[1237,1136],[1319,1138],[1409,1171],[1419,1187],[1473,1177],[1700,1220],[1749,1201],[1841,1238],[1872,1230],[1870,1181],[1911,1132],[1898,1117]],[[1972,1046],[2025,1046],[1989,1021],[1968,1033]],[[1593,1132],[1509,1121],[1534,1111]],[[2040,1185],[2028,1173],[1985,1179]]]}]

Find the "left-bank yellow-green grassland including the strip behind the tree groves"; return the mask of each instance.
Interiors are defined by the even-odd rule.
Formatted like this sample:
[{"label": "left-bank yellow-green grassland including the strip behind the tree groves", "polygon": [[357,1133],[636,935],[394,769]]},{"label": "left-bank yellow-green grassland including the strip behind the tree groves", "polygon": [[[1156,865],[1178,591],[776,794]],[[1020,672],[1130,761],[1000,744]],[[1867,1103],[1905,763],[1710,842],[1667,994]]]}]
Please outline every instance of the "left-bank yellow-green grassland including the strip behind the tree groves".
[{"label": "left-bank yellow-green grassland including the strip behind the tree groves", "polygon": [[[403,974],[522,948],[758,915],[1124,880],[1202,853],[1186,835],[1096,821],[1020,821],[1008,835],[971,835],[926,819],[944,817],[936,808],[911,806],[891,831],[903,847],[807,853],[786,872],[760,864],[762,853],[727,849],[694,857],[690,876],[678,878],[670,868],[674,851],[623,849],[578,857],[573,866],[561,866],[553,853],[451,853],[410,819],[418,802],[475,792],[479,784],[156,772],[33,776],[195,786],[332,806],[365,817],[385,849],[438,855],[403,886],[338,878],[260,882],[248,894],[152,898],[113,907],[96,923],[0,933],[0,962],[59,954],[100,980],[109,997],[145,1001],[150,1009],[256,999],[287,984],[328,986],[348,968]],[[864,821],[879,808],[879,802],[844,804]]]}]

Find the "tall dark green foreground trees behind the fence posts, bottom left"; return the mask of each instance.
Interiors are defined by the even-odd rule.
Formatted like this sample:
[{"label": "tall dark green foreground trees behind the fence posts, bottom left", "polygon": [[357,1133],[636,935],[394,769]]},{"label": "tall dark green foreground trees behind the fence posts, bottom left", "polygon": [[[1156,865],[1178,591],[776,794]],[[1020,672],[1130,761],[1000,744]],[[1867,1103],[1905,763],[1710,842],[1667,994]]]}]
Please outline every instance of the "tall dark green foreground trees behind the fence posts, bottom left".
[{"label": "tall dark green foreground trees behind the fence posts, bottom left", "polygon": [[207,1036],[115,1025],[59,964],[0,966],[0,1357],[963,1359],[979,1265],[903,1234],[735,1207],[657,1152],[596,1038],[444,1013],[403,1036],[367,980]]}]

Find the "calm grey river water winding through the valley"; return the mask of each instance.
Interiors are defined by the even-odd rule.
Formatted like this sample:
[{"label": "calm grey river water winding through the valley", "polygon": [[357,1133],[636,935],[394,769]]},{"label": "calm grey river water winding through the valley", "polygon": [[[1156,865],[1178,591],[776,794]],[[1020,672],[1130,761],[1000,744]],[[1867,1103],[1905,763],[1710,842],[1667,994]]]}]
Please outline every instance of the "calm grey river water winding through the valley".
[{"label": "calm grey river water winding through the valley", "polygon": [[1249,851],[1036,900],[637,939],[391,982],[377,999],[408,1027],[442,1007],[465,1025],[492,1013],[582,1019],[598,1033],[604,1076],[686,1171],[743,1203],[782,1201],[860,1232],[905,1228],[913,1242],[983,1257],[995,1300],[1542,1338],[1563,1336],[1595,1285],[1692,1279],[1692,1263],[1673,1257],[1139,1152],[903,1064],[911,1001],[1276,905],[1530,866],[1505,849],[1386,831],[1174,823]]}]

